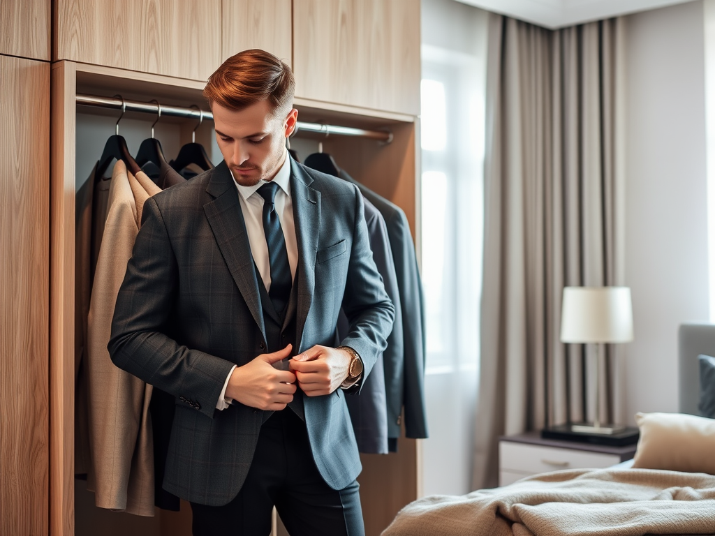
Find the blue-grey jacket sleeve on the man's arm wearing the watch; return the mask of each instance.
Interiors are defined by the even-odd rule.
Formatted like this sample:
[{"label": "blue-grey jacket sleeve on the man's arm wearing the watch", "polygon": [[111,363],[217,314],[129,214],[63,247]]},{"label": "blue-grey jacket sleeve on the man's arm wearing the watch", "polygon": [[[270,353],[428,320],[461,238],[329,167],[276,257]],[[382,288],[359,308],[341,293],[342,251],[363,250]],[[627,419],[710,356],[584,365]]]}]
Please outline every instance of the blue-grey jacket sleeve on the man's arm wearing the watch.
[{"label": "blue-grey jacket sleeve on the man's arm wearing the watch", "polygon": [[[355,188],[355,224],[352,250],[347,268],[342,310],[350,324],[347,335],[340,342],[360,354],[363,359],[363,378],[373,369],[378,354],[387,347],[393,329],[395,307],[385,292],[373,252],[370,249],[368,226],[365,223],[363,194]],[[358,390],[364,382],[360,382]]]}]

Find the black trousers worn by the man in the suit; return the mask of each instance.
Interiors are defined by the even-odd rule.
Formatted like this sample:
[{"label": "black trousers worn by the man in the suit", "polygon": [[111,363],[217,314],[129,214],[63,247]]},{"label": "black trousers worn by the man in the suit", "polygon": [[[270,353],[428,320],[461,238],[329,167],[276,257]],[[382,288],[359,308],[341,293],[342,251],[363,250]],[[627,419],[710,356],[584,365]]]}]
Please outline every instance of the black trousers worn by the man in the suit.
[{"label": "black trousers worn by the man in the suit", "polygon": [[191,503],[194,536],[270,535],[273,506],[290,536],[364,536],[358,482],[333,490],[315,467],[305,422],[286,408],[263,423],[246,481],[225,506]]}]

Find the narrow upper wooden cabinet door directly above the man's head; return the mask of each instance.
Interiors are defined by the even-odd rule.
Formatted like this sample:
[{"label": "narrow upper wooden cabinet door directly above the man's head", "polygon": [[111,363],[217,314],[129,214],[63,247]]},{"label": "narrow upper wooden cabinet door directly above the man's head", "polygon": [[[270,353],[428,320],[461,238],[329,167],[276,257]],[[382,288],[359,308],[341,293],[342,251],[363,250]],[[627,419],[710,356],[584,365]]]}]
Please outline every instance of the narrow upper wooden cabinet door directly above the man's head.
[{"label": "narrow upper wooden cabinet door directly above the man's head", "polygon": [[222,61],[263,49],[292,64],[291,0],[223,0],[222,28]]}]

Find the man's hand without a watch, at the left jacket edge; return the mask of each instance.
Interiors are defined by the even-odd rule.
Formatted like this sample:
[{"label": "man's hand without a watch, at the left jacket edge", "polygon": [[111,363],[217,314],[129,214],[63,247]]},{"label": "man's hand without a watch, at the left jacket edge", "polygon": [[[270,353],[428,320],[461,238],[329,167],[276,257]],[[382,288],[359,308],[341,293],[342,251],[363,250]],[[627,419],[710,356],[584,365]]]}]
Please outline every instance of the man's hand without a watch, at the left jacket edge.
[{"label": "man's hand without a watch, at the left jacket edge", "polygon": [[236,367],[228,380],[226,396],[259,410],[284,410],[295,393],[295,374],[278,370],[272,364],[290,356],[292,344],[278,352],[260,354],[251,362]]}]

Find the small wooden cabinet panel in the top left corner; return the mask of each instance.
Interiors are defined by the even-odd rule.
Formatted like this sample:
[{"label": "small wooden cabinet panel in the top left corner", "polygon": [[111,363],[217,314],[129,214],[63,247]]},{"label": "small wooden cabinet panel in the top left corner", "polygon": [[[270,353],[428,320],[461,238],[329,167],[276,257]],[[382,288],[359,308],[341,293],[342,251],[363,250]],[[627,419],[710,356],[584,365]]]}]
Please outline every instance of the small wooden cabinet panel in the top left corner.
[{"label": "small wooden cabinet panel in the top left corner", "polygon": [[49,61],[49,0],[0,1],[0,54]]}]

